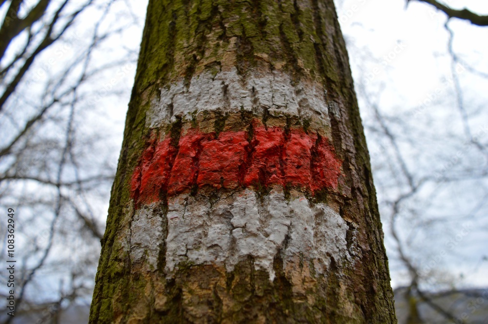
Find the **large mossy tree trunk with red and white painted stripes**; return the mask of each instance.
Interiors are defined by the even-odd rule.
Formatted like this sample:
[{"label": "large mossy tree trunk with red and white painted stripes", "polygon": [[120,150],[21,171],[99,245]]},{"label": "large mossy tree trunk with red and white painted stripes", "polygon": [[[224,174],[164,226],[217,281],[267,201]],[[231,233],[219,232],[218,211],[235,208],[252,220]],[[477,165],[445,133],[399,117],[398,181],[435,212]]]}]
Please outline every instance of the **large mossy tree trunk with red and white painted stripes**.
[{"label": "large mossy tree trunk with red and white painted stripes", "polygon": [[149,0],[90,323],[396,323],[332,0]]}]

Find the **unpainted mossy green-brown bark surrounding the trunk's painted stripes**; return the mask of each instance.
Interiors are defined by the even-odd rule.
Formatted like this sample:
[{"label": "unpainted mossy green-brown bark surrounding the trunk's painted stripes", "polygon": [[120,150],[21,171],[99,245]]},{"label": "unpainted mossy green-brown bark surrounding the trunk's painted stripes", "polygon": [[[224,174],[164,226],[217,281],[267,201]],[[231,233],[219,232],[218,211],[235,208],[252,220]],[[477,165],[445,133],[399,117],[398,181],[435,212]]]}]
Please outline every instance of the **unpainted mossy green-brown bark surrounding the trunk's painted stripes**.
[{"label": "unpainted mossy green-brown bark surrounding the trunk's painted stripes", "polygon": [[[267,272],[254,269],[252,259],[230,273],[219,267],[180,264],[175,277],[168,279],[163,243],[158,269],[153,272],[138,270],[129,253],[121,252],[124,226],[133,217],[133,210],[127,209],[131,175],[153,131],[146,126],[151,101],[171,82],[184,80],[188,87],[203,70],[216,75],[229,67],[241,76],[280,70],[294,82],[320,81],[326,89],[331,142],[344,160],[345,186],[351,190],[341,196],[323,191],[311,200],[340,206],[343,218],[357,228],[359,246],[367,248],[354,267],[340,267],[341,275],[337,274],[339,265],[332,264],[325,275],[318,275],[311,263],[308,267],[315,284],[307,295],[312,299],[294,292],[295,283],[286,276],[280,258],[274,263],[277,277],[270,283]],[[253,116],[244,110],[241,121],[232,120],[232,125],[223,114],[195,115],[191,123],[201,124],[198,118],[204,116],[217,132],[225,127],[252,132]],[[264,113],[264,124],[271,118]],[[310,122],[300,125],[289,117],[286,122],[288,128],[309,131]],[[168,125],[158,132],[172,136],[176,145],[182,121]],[[149,0],[90,323],[396,323],[370,170],[332,0]],[[165,217],[167,210],[160,209]],[[192,302],[189,293],[200,294],[202,300]],[[198,307],[207,315],[196,317]]]}]

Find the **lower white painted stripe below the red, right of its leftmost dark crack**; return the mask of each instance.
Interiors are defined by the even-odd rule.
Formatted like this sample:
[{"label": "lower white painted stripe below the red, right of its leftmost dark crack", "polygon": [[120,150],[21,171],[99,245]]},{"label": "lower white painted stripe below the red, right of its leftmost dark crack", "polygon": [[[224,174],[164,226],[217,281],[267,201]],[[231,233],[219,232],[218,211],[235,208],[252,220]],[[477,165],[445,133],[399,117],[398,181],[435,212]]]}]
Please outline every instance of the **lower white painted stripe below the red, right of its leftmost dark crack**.
[{"label": "lower white painted stripe below the red, right of its leftmost dark crack", "polygon": [[325,273],[331,258],[339,267],[352,261],[346,245],[348,226],[323,203],[311,207],[305,196],[286,201],[279,187],[262,200],[249,189],[217,195],[212,204],[203,195],[182,194],[170,199],[168,277],[180,263],[187,262],[223,265],[232,271],[251,255],[256,269],[266,270],[272,281],[273,261],[280,250],[285,268],[301,256],[304,262],[311,261],[319,274]]}]

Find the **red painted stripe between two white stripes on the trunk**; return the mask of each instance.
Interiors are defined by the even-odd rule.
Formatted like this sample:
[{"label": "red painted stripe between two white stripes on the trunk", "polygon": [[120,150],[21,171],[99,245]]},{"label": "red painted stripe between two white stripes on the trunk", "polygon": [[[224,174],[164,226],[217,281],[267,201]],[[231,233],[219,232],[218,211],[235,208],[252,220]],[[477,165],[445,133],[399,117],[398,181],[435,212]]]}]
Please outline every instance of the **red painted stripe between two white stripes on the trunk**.
[{"label": "red painted stripe between two white stripes on the trunk", "polygon": [[341,161],[327,138],[300,129],[256,127],[248,133],[202,133],[188,130],[178,147],[170,138],[151,139],[131,181],[138,203],[158,201],[198,187],[235,189],[278,184],[312,192],[337,189]]}]

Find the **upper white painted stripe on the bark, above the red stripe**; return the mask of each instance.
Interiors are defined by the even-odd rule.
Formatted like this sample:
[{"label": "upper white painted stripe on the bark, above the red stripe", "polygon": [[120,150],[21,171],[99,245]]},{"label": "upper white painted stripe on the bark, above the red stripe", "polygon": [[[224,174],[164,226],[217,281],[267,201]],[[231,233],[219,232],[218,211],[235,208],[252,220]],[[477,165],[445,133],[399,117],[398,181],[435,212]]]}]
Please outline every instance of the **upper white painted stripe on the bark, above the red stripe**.
[{"label": "upper white painted stripe on the bark, above the red stripe", "polygon": [[[253,91],[254,88],[254,91]],[[175,116],[191,120],[192,114],[220,110],[238,113],[241,109],[262,116],[266,108],[272,116],[297,116],[330,128],[324,87],[318,82],[293,82],[287,74],[257,72],[245,78],[230,71],[193,76],[187,88],[183,80],[161,89],[146,114],[146,126],[155,128],[175,121]]]}]

